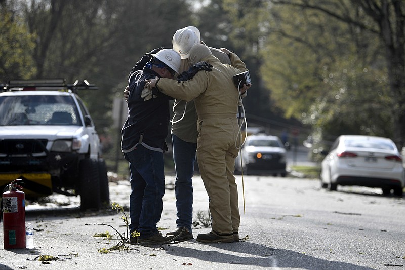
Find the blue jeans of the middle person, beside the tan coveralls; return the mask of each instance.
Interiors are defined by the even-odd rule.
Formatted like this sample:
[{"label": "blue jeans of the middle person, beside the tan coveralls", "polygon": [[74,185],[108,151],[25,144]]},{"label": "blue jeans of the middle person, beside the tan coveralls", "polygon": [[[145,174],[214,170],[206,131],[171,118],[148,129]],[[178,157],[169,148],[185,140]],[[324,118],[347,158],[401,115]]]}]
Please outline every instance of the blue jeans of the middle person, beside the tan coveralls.
[{"label": "blue jeans of the middle person, beside the tan coveralls", "polygon": [[190,232],[193,220],[193,184],[195,150],[197,143],[186,142],[172,134],[173,160],[176,170],[175,194],[177,227],[185,227]]}]

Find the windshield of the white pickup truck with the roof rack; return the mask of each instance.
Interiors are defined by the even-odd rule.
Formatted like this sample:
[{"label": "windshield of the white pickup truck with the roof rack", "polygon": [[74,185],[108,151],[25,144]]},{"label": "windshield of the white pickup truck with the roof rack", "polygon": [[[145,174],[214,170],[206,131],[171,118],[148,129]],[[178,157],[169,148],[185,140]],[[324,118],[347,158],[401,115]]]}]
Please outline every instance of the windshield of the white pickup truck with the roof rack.
[{"label": "windshield of the white pickup truck with the roof rack", "polygon": [[0,126],[82,125],[69,96],[0,97]]}]

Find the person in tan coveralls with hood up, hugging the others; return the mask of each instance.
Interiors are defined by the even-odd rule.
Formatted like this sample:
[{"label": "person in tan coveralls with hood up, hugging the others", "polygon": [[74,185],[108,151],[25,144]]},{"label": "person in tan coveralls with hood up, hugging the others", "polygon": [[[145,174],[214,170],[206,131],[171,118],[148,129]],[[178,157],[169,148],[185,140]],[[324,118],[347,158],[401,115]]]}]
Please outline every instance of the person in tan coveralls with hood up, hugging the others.
[{"label": "person in tan coveralls with hood up, hugging the others", "polygon": [[212,231],[199,234],[198,242],[233,242],[239,230],[238,193],[233,175],[240,142],[236,118],[239,91],[233,76],[247,71],[235,53],[228,54],[233,66],[222,64],[210,49],[196,44],[190,50],[191,64],[206,61],[212,71],[199,71],[189,81],[158,78],[148,80],[146,87],[185,101],[194,99],[197,112],[197,162],[210,198]]}]

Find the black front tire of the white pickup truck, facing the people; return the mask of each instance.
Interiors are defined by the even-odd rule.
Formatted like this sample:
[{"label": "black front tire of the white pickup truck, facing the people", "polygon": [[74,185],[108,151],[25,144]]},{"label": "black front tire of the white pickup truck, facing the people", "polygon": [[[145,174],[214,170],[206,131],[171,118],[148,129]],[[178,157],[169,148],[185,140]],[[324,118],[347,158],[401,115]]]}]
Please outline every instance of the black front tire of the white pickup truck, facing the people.
[{"label": "black front tire of the white pickup truck, facing the people", "polygon": [[98,161],[84,159],[80,161],[79,170],[80,209],[99,209],[101,203]]}]

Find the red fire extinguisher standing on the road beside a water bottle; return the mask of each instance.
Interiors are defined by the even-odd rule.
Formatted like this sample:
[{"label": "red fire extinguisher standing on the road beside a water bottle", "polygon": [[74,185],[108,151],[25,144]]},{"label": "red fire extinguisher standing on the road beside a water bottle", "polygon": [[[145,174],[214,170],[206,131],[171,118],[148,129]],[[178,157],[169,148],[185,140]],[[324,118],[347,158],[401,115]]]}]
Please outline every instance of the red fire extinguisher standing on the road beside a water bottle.
[{"label": "red fire extinguisher standing on the road beside a water bottle", "polygon": [[4,249],[25,248],[25,194],[19,181],[7,185],[2,197]]}]

